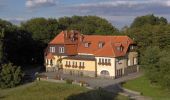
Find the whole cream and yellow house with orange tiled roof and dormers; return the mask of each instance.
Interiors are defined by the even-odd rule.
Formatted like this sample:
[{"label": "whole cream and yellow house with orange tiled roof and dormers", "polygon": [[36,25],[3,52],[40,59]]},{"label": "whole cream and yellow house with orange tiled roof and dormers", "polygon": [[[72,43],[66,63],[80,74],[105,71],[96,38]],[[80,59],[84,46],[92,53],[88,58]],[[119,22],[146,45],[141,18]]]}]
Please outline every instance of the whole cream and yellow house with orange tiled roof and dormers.
[{"label": "whole cream and yellow house with orange tiled roof and dormers", "polygon": [[62,31],[44,53],[46,71],[118,78],[138,71],[136,44],[128,36],[82,35]]}]

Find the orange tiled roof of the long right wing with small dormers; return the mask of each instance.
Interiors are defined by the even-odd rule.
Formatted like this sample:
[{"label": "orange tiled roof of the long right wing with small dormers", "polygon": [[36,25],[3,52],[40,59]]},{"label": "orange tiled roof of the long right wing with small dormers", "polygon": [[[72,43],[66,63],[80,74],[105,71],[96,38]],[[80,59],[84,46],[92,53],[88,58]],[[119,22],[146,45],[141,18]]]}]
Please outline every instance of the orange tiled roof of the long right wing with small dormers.
[{"label": "orange tiled roof of the long right wing with small dormers", "polygon": [[[78,53],[94,54],[95,56],[124,56],[133,40],[128,36],[101,36],[101,35],[85,35],[84,42],[90,41],[90,46],[84,47],[81,43],[78,47]],[[103,48],[99,48],[98,43],[104,42]],[[123,51],[116,50],[117,46],[122,46]]]}]

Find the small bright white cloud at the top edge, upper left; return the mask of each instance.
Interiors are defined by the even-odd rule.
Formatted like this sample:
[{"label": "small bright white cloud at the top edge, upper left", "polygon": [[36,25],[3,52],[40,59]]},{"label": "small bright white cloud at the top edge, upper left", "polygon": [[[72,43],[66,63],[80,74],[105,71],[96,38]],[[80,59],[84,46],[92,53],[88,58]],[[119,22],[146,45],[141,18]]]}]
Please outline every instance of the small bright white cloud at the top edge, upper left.
[{"label": "small bright white cloud at the top edge, upper left", "polygon": [[28,8],[49,7],[55,4],[56,2],[54,0],[27,0],[25,3]]}]

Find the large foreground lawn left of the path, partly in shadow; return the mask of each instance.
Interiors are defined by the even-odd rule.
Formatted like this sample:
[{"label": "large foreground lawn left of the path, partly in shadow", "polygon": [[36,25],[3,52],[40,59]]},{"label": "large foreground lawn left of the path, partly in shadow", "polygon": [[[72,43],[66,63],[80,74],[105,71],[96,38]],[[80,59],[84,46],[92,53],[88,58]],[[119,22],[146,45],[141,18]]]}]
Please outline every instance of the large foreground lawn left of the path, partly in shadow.
[{"label": "large foreground lawn left of the path, partly in shadow", "polygon": [[0,100],[128,100],[104,90],[88,90],[71,84],[33,82],[13,89],[0,90]]}]

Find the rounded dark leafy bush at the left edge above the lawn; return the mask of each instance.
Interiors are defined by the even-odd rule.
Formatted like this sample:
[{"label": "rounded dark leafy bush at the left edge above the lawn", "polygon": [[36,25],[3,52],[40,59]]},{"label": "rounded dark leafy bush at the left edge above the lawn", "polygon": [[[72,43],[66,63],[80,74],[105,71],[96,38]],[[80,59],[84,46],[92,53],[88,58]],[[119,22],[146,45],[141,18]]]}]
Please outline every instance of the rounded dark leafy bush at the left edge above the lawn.
[{"label": "rounded dark leafy bush at the left edge above the lawn", "polygon": [[23,72],[18,66],[13,66],[12,63],[2,65],[0,72],[0,87],[12,88],[21,83]]}]

